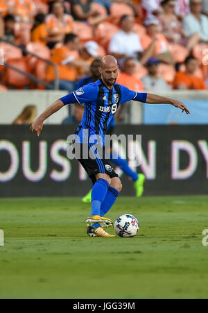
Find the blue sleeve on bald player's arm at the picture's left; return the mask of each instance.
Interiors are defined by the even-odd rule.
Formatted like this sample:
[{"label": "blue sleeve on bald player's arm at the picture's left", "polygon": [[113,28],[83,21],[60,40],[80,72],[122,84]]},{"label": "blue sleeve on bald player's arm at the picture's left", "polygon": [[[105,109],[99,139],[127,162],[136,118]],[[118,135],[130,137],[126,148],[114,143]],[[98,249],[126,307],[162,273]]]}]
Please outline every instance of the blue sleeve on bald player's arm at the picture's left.
[{"label": "blue sleeve on bald player's arm at the picture's left", "polygon": [[98,91],[96,86],[89,84],[80,87],[75,92],[72,92],[72,94],[68,94],[67,96],[62,97],[60,100],[62,103],[64,103],[64,105],[76,102],[82,105],[85,102],[96,101],[97,94]]}]

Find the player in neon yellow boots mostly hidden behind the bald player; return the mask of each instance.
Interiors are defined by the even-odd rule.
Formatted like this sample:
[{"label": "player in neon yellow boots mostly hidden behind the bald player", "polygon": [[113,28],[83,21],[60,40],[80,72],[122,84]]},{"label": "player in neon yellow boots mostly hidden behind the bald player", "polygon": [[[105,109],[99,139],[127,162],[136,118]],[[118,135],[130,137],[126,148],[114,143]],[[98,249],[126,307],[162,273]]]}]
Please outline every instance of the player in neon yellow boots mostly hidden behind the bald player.
[{"label": "player in neon yellow boots mostly hidden behind the bald player", "polygon": [[[77,89],[89,84],[89,83],[95,83],[99,78],[101,78],[101,72],[99,71],[101,67],[101,60],[95,59],[92,62],[92,65],[90,67],[91,74],[90,76],[87,76],[83,78],[78,85],[76,86]],[[114,115],[112,117],[112,120],[110,121],[110,124],[107,128],[106,134],[107,135],[112,135],[114,133],[114,128],[116,126],[116,119],[114,118]],[[110,160],[114,162],[118,167],[122,169],[122,171],[132,178],[132,180],[135,182],[135,190],[136,190],[136,196],[137,198],[141,197],[143,192],[144,192],[144,181],[145,181],[145,176],[144,174],[137,174],[137,172],[132,171],[130,167],[128,166],[128,162],[121,158],[120,155],[113,155],[112,153],[112,147],[111,150],[109,151],[110,154]],[[86,196],[83,197],[82,201],[85,203],[91,202],[91,197],[92,196],[92,189],[86,194]]]}]

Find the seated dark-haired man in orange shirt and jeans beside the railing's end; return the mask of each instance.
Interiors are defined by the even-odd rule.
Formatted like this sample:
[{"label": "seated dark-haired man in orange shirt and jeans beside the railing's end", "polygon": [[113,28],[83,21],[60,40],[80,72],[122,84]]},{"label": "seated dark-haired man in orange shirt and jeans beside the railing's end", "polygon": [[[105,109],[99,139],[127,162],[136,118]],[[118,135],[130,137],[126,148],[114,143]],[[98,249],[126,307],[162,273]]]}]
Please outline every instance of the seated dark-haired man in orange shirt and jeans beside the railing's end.
[{"label": "seated dark-haired man in orange shirt and jeans beside the railing's end", "polygon": [[[58,65],[60,90],[73,91],[76,85],[77,69],[79,67],[88,67],[88,62],[78,60],[79,50],[80,41],[78,36],[72,33],[65,36],[63,46],[53,50],[51,61]],[[54,85],[54,80],[54,67],[50,65],[46,72],[46,81]]]}]

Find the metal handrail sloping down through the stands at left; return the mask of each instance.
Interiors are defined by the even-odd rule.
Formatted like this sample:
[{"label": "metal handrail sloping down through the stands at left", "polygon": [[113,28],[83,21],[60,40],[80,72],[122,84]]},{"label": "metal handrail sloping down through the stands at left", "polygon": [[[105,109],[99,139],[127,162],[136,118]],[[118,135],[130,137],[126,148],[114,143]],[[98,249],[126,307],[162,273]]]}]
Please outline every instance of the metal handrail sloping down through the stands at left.
[{"label": "metal handrail sloping down through the stands at left", "polygon": [[50,60],[46,60],[46,59],[42,58],[41,56],[37,56],[37,54],[26,50],[24,47],[19,46],[18,44],[15,44],[14,42],[9,42],[8,40],[3,40],[1,38],[0,38],[0,42],[5,42],[6,44],[11,44],[12,46],[15,46],[16,48],[21,49],[21,51],[25,55],[33,56],[34,58],[37,58],[38,60],[45,62],[47,65],[51,65],[52,67],[54,67],[54,73],[55,73],[54,85],[51,85],[50,83],[46,83],[46,81],[43,81],[42,79],[37,78],[33,74],[28,74],[25,71],[21,71],[21,69],[17,69],[17,67],[14,67],[14,66],[8,64],[8,62],[4,62],[4,66],[9,67],[10,69],[17,71],[17,73],[22,74],[22,75],[30,78],[31,81],[33,81],[34,83],[40,83],[40,84],[44,85],[45,87],[48,87],[49,89],[52,89],[52,90],[59,90],[58,65],[56,65],[54,62],[51,62]]}]

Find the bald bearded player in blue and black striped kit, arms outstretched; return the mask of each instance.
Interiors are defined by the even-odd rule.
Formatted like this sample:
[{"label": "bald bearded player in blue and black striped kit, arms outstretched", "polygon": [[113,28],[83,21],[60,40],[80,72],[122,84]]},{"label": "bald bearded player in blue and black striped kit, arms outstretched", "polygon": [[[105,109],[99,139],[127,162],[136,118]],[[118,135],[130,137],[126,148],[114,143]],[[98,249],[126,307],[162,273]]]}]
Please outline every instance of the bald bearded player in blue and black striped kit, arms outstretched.
[{"label": "bald bearded player in blue and black striped kit, arms outstretched", "polygon": [[[101,78],[95,83],[85,85],[75,92],[55,101],[31,125],[31,131],[40,135],[43,122],[64,105],[77,102],[85,103],[83,119],[76,130],[73,148],[76,158],[83,165],[94,187],[92,188],[92,210],[85,220],[87,235],[91,237],[114,237],[104,230],[112,226],[105,214],[112,208],[122,185],[109,160],[105,159],[105,132],[113,115],[122,103],[135,100],[144,103],[167,103],[189,114],[180,101],[167,99],[155,94],[139,93],[116,83],[118,64],[114,57],[105,56],[101,60]],[[87,156],[86,158],[86,147]],[[79,149],[78,149],[79,148]],[[79,152],[79,153],[78,153]]]}]

